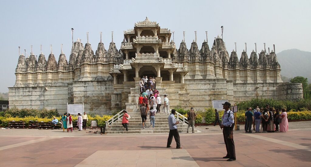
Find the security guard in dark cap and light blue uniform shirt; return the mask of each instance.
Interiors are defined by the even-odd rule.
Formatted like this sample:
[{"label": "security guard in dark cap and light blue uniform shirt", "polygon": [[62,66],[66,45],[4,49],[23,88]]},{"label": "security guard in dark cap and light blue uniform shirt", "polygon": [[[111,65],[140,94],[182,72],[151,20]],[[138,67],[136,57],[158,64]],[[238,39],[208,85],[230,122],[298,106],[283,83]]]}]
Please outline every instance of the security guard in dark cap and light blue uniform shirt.
[{"label": "security guard in dark cap and light blue uniform shirt", "polygon": [[234,114],[230,110],[231,104],[229,102],[225,102],[222,105],[223,109],[225,109],[225,112],[221,119],[220,128],[223,128],[222,133],[224,135],[227,150],[227,155],[224,156],[223,158],[229,158],[227,161],[233,161],[236,160],[235,147],[233,141]]}]

